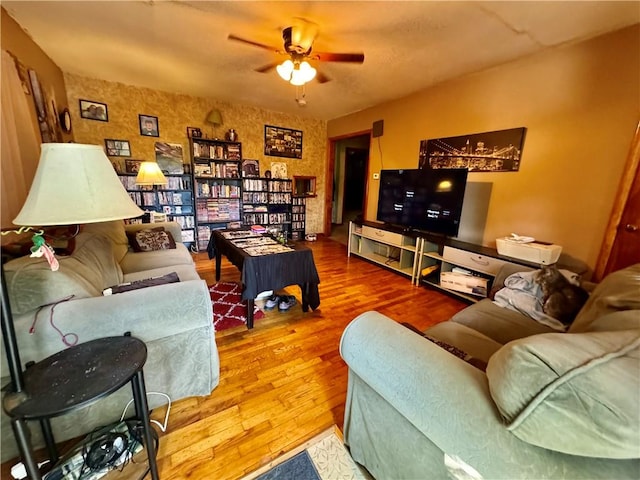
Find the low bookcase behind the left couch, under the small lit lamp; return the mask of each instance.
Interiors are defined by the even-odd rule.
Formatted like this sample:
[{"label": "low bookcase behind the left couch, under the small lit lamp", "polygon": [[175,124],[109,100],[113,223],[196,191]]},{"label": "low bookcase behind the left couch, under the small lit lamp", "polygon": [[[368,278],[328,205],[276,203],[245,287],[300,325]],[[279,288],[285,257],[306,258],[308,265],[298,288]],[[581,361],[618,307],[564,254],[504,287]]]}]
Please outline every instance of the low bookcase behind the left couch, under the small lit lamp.
[{"label": "low bookcase behind the left couch, under the small lit lamp", "polygon": [[[189,174],[165,175],[168,184],[161,188],[136,185],[136,174],[119,174],[120,182],[131,199],[146,212],[166,215],[168,221],[177,222],[182,228],[182,242],[191,247],[195,242],[193,207],[193,180]],[[143,218],[130,222],[142,223]]]}]

